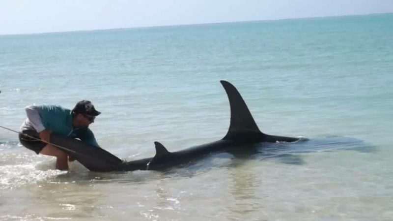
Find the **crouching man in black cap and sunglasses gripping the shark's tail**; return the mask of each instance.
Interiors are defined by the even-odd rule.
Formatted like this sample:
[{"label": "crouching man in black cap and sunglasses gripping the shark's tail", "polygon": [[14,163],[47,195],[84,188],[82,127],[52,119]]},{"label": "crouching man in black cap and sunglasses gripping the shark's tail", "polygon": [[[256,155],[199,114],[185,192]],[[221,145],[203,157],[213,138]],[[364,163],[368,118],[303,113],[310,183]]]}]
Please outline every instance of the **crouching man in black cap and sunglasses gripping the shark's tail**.
[{"label": "crouching man in black cap and sunglasses gripping the shark's tail", "polygon": [[[79,138],[99,147],[93,132],[88,126],[101,112],[96,111],[88,100],[79,101],[74,109],[69,110],[57,105],[30,105],[26,107],[27,119],[21,126],[21,132],[50,142],[51,134]],[[59,148],[19,134],[23,146],[36,154],[56,157],[56,169],[68,170],[67,154]],[[70,158],[71,160],[71,158]]]}]

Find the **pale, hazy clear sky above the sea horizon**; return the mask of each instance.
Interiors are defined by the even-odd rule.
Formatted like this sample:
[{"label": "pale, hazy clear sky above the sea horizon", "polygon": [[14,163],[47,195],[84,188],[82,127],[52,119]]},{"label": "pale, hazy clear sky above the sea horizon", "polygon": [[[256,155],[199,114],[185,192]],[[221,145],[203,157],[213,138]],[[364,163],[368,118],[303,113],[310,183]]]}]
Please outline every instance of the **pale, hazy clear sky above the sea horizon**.
[{"label": "pale, hazy clear sky above the sea horizon", "polygon": [[393,12],[393,0],[0,0],[0,34]]}]

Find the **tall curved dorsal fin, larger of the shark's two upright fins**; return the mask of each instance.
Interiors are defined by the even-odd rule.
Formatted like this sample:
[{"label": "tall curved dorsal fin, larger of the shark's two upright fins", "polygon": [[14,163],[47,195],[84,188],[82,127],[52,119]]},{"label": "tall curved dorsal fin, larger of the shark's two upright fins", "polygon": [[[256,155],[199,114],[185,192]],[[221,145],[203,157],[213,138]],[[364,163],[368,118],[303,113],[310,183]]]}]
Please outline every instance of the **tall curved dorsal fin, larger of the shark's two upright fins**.
[{"label": "tall curved dorsal fin, larger of the shark's two upright fins", "polygon": [[230,126],[223,139],[253,141],[263,139],[263,133],[256,126],[249,108],[237,89],[227,81],[220,82],[228,95],[230,105]]}]

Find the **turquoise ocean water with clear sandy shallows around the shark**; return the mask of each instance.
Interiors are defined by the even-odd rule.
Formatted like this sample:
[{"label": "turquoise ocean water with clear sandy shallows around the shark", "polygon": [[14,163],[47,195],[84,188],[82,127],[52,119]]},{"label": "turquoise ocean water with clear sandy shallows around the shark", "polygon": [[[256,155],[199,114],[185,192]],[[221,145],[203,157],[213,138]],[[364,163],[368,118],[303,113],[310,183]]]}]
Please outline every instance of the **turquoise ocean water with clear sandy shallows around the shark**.
[{"label": "turquoise ocean water with clear sandy shallows around the shark", "polygon": [[221,139],[231,82],[261,131],[304,136],[167,172],[89,172],[0,129],[0,220],[391,221],[393,14],[0,36],[0,126],[29,104],[102,114],[126,160]]}]

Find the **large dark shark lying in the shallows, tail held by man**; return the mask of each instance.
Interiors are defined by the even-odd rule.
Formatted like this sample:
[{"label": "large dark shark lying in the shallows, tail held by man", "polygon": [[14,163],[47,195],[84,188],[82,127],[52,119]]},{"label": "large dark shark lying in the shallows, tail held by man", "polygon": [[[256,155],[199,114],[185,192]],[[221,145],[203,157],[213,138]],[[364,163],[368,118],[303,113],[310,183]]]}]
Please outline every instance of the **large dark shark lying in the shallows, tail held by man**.
[{"label": "large dark shark lying in the shallows, tail held by man", "polygon": [[230,104],[230,126],[221,140],[190,147],[177,152],[169,152],[161,143],[154,142],[156,155],[153,158],[143,158],[124,161],[108,151],[93,147],[80,140],[53,134],[51,142],[62,148],[68,154],[91,171],[133,171],[133,170],[165,170],[173,166],[189,163],[212,153],[226,150],[252,148],[261,142],[293,142],[295,137],[275,136],[262,133],[255,124],[249,108],[237,89],[227,81],[221,81],[228,95]]}]

